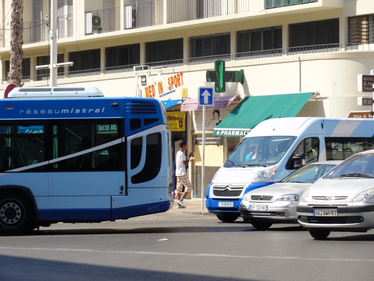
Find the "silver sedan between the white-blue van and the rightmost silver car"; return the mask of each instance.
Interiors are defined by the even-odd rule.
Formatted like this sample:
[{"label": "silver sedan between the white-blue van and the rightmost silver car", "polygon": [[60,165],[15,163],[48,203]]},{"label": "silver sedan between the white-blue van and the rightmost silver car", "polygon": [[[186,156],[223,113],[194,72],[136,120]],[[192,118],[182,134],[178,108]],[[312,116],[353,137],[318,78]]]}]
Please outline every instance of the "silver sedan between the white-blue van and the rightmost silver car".
[{"label": "silver sedan between the white-blue van and the rightmost silver car", "polygon": [[282,181],[246,193],[240,203],[240,217],[261,230],[274,223],[298,223],[299,197],[322,175],[342,161],[309,164],[289,174]]}]

